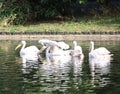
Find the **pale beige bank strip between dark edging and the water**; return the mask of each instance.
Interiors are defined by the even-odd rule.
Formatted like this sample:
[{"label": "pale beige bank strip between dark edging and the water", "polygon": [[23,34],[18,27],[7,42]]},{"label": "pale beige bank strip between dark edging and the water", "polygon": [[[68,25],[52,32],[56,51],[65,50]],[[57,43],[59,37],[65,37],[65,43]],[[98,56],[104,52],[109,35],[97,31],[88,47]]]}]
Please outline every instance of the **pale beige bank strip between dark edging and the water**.
[{"label": "pale beige bank strip between dark edging and the water", "polygon": [[39,40],[39,39],[52,39],[52,40],[100,40],[100,41],[106,41],[106,40],[120,40],[120,35],[106,35],[106,34],[66,34],[66,35],[0,35],[0,40]]}]

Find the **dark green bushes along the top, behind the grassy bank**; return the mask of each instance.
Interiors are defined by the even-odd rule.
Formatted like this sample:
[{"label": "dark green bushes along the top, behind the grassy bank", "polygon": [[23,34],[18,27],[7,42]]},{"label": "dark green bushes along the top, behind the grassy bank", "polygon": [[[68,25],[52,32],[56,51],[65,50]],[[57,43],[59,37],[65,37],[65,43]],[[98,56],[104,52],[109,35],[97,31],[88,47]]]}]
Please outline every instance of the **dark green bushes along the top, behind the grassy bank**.
[{"label": "dark green bushes along the top, behind the grassy bank", "polygon": [[[64,16],[96,15],[113,13],[116,7],[120,11],[118,3],[94,0],[97,2],[87,2],[89,0],[2,0],[0,4],[0,20],[3,26],[11,24],[25,24],[29,21],[39,21],[44,18],[56,18]],[[112,0],[110,0],[112,2]],[[82,4],[80,4],[82,3]],[[83,4],[84,3],[84,4]],[[105,7],[103,6],[105,3]],[[111,5],[110,5],[111,4]],[[99,7],[102,5],[102,7]],[[108,6],[110,5],[110,7]],[[107,6],[107,8],[106,8]],[[111,12],[112,11],[112,12]],[[115,11],[115,10],[114,10]]]}]

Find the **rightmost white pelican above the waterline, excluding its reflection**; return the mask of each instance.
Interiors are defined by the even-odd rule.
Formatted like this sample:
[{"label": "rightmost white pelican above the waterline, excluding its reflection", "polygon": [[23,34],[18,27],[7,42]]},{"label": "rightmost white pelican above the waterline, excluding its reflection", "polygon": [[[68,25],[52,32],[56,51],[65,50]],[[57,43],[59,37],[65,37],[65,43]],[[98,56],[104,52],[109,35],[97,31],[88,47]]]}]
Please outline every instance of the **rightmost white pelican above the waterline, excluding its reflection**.
[{"label": "rightmost white pelican above the waterline, excluding its reflection", "polygon": [[109,58],[111,56],[110,51],[108,51],[105,47],[99,47],[94,49],[94,42],[90,42],[91,51],[89,52],[89,58]]}]

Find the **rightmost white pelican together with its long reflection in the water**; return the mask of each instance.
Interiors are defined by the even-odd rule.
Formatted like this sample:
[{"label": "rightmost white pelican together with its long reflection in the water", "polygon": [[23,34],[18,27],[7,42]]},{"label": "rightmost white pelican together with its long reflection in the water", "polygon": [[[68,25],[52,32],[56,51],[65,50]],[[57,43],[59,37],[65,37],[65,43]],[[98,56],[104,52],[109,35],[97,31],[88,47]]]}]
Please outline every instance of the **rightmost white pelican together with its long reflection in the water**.
[{"label": "rightmost white pelican together with its long reflection in the water", "polygon": [[[91,72],[91,83],[93,86],[96,86],[96,81],[100,80],[98,84],[101,87],[104,87],[109,82],[106,76],[110,72],[110,62],[112,60],[110,54],[110,51],[108,51],[105,47],[99,47],[97,49],[94,49],[94,42],[90,42],[91,51],[89,53],[89,66],[90,66],[90,72]],[[96,80],[97,79],[97,80]]]}]

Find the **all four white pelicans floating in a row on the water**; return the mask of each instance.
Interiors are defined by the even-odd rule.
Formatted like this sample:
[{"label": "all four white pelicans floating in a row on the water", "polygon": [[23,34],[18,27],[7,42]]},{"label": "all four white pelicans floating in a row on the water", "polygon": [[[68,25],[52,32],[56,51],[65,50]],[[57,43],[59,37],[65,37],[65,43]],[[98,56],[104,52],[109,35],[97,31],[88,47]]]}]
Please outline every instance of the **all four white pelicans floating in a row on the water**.
[{"label": "all four white pelicans floating in a row on the water", "polygon": [[[42,45],[40,49],[38,49],[34,45],[26,47],[26,41],[21,41],[20,44],[15,48],[15,50],[17,50],[20,46],[22,46],[19,53],[20,53],[20,57],[22,58],[23,64],[26,64],[27,61],[41,60],[41,53],[44,50],[45,50],[46,58],[52,59],[51,61],[55,61],[56,59],[58,61],[59,60],[63,61],[65,60],[65,58],[68,58],[68,57],[69,58],[71,57],[71,59],[69,60],[74,61],[74,62],[79,62],[79,61],[84,60],[84,54],[82,51],[82,47],[77,44],[77,41],[73,41],[73,49],[70,49],[70,46],[63,41],[41,39],[38,41],[38,43]],[[92,62],[100,61],[100,60],[107,61],[107,59],[110,60],[112,56],[110,51],[107,50],[105,47],[99,47],[99,48],[94,49],[93,41],[90,42],[90,48],[91,50],[88,53],[88,55],[89,55],[89,60],[91,60]],[[77,58],[77,61],[75,61],[76,58]],[[99,64],[97,62],[95,64],[106,65],[100,62]]]}]

